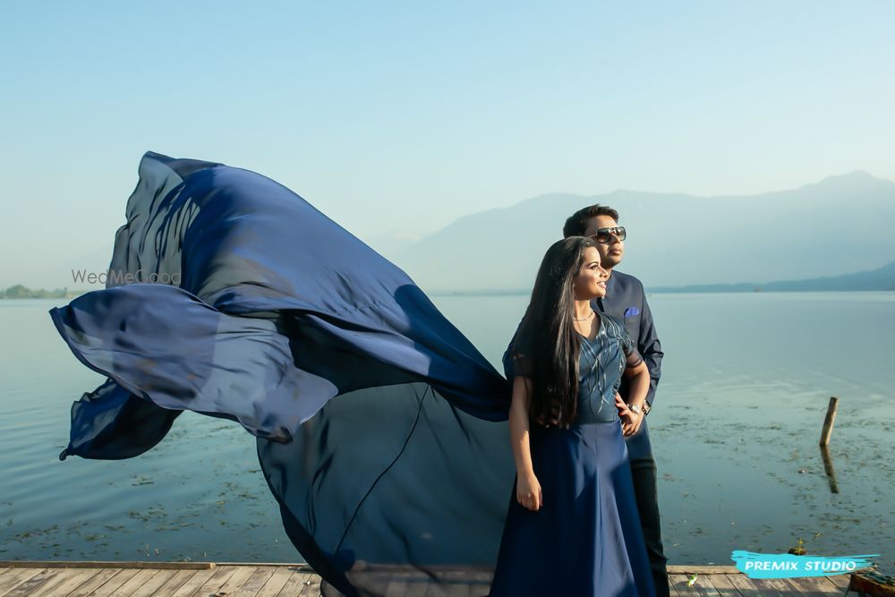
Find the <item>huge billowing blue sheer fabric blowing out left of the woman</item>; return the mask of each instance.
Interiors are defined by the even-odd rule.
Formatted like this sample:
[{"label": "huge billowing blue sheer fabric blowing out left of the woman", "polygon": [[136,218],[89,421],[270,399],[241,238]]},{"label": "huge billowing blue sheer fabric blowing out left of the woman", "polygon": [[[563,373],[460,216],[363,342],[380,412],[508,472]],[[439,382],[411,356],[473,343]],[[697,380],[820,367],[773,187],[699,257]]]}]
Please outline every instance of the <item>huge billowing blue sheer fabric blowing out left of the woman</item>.
[{"label": "huge billowing blue sheer fabric blowing out left of the woman", "polygon": [[515,472],[507,381],[286,187],[147,153],[107,288],[50,314],[107,376],[72,406],[61,458],[139,455],[183,410],[223,417],[258,437],[286,532],[337,591],[386,593],[373,565],[434,582],[493,567]]}]

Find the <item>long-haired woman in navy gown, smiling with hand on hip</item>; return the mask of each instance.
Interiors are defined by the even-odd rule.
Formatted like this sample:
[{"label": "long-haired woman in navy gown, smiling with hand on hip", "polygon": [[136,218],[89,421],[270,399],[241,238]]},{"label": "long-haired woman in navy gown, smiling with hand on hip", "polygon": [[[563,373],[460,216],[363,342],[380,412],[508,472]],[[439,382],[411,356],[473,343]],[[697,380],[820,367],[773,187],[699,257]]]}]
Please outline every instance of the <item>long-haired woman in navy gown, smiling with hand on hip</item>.
[{"label": "long-haired woman in navy gown, smiling with hand on hip", "polygon": [[624,326],[591,307],[608,277],[580,236],[541,262],[510,348],[516,482],[492,597],[654,594],[623,439],[635,415],[616,393],[624,373],[643,405],[649,372]]}]

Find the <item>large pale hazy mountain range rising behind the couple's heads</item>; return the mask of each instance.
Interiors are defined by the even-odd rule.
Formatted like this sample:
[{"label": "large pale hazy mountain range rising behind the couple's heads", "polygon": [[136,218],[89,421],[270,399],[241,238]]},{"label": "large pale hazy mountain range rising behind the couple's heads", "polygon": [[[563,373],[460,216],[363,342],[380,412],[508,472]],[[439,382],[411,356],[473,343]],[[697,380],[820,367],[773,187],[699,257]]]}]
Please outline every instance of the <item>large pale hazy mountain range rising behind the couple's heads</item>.
[{"label": "large pale hazy mountain range rising behind the couple's heads", "polygon": [[835,277],[895,258],[895,183],[865,172],[752,196],[550,194],[457,219],[387,256],[430,291],[530,289],[567,216],[608,204],[627,227],[623,271],[646,286]]}]

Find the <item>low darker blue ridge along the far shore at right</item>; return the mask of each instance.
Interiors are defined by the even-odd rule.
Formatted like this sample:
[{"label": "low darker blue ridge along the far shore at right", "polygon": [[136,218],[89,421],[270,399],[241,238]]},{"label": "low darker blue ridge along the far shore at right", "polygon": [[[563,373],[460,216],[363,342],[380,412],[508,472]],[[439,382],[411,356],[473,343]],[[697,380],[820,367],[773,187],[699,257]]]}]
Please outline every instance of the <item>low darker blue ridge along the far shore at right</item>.
[{"label": "low darker blue ridge along the far shore at right", "polygon": [[677,286],[672,288],[650,287],[650,292],[660,293],[737,293],[737,292],[795,292],[833,290],[895,290],[895,261],[880,269],[859,271],[854,274],[833,277],[814,277],[807,280],[787,280],[755,284],[712,284]]}]

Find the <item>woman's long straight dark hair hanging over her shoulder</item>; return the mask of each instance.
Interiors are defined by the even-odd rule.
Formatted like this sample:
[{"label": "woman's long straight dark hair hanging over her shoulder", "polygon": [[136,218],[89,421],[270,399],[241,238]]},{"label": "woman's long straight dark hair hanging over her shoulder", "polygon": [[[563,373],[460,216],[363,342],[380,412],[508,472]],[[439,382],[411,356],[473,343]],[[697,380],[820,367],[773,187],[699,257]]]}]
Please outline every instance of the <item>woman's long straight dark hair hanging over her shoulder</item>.
[{"label": "woman's long straight dark hair hanging over her shoulder", "polygon": [[575,331],[573,282],[584,265],[584,250],[596,244],[572,236],[550,245],[534,281],[532,301],[515,346],[530,359],[532,396],[529,416],[541,425],[567,426],[575,420],[578,397],[578,355],[581,337]]}]

